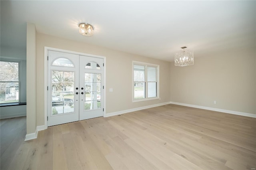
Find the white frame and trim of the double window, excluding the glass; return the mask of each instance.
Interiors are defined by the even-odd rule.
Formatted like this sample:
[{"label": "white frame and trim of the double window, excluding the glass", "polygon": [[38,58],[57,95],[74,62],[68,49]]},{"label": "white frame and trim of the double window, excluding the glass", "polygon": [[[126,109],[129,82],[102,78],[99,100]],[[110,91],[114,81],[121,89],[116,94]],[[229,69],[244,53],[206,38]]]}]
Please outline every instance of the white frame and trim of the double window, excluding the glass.
[{"label": "white frame and trim of the double window, excluding the glass", "polygon": [[[134,65],[143,65],[145,66],[144,73],[144,82],[145,82],[145,98],[144,99],[134,99]],[[156,67],[156,97],[148,97],[148,67]],[[160,99],[160,90],[159,90],[159,71],[160,65],[145,63],[140,61],[132,61],[132,102],[140,102],[140,101],[149,101]]]}]

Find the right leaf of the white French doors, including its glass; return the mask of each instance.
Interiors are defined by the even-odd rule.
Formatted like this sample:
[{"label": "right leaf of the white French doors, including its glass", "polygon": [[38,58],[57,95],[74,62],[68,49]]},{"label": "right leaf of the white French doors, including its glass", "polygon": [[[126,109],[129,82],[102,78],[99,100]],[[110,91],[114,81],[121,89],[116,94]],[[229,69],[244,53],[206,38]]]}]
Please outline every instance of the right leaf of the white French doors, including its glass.
[{"label": "right leaf of the white French doors, including its glass", "polygon": [[103,116],[102,68],[102,58],[80,55],[80,120]]}]

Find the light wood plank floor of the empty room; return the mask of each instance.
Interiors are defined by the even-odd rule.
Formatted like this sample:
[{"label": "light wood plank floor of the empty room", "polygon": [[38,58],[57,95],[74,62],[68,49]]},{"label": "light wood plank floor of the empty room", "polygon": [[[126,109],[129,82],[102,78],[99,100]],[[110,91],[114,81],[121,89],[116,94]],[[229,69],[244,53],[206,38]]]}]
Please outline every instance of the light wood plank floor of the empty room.
[{"label": "light wood plank floor of the empty room", "polygon": [[256,118],[178,105],[49,127],[10,161],[2,140],[1,170],[256,168]]}]

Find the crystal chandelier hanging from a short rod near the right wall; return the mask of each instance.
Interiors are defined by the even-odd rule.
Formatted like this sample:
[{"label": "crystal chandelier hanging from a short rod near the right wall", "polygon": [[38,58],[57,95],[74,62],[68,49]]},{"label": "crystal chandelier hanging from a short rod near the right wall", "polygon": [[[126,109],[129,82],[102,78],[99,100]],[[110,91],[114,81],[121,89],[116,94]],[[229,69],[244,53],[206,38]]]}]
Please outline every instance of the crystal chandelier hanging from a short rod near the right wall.
[{"label": "crystal chandelier hanging from a short rod near the right wall", "polygon": [[185,51],[186,47],[181,47],[182,52],[175,54],[175,66],[194,65],[194,53]]}]

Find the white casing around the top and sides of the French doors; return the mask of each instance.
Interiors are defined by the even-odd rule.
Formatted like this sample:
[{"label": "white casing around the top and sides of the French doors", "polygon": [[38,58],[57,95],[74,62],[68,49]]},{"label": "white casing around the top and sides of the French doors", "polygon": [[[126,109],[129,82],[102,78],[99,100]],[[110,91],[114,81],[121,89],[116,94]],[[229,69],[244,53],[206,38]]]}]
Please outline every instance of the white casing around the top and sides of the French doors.
[{"label": "white casing around the top and sides of the French doors", "polygon": [[87,54],[87,53],[80,53],[76,51],[69,51],[65,49],[58,49],[58,48],[53,48],[53,47],[44,47],[44,129],[48,128],[48,121],[47,121],[47,116],[48,116],[48,50],[51,51],[58,51],[58,52],[63,52],[63,53],[71,53],[71,54],[77,54],[77,55],[85,55],[88,57],[96,57],[96,58],[102,58],[103,63],[104,63],[104,71],[103,71],[103,76],[104,76],[104,81],[103,81],[103,117],[106,117],[106,57],[100,56],[100,55],[93,55],[93,54]]}]

